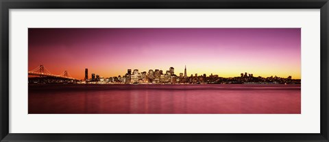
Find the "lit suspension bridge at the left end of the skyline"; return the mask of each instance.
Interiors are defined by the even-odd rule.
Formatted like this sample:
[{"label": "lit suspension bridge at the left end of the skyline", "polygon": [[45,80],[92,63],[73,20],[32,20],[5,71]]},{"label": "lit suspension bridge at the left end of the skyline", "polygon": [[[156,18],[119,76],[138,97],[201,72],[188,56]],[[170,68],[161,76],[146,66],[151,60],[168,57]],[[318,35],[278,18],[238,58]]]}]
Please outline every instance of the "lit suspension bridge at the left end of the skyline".
[{"label": "lit suspension bridge at the left end of the skyline", "polygon": [[39,76],[40,78],[49,77],[49,78],[56,78],[58,80],[72,80],[72,81],[80,81],[77,78],[72,78],[72,76],[67,71],[63,71],[59,75],[51,73],[45,66],[42,64],[36,69],[32,69],[32,71],[28,71],[29,75]]}]

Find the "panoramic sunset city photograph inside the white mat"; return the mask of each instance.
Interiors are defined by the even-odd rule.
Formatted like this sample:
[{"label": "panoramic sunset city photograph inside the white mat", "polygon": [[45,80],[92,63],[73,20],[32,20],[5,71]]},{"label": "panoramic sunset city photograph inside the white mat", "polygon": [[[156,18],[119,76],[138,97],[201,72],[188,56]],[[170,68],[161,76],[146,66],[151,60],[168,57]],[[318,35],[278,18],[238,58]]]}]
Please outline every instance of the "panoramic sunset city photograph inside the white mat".
[{"label": "panoramic sunset city photograph inside the white mat", "polygon": [[301,114],[300,28],[29,28],[29,114]]}]

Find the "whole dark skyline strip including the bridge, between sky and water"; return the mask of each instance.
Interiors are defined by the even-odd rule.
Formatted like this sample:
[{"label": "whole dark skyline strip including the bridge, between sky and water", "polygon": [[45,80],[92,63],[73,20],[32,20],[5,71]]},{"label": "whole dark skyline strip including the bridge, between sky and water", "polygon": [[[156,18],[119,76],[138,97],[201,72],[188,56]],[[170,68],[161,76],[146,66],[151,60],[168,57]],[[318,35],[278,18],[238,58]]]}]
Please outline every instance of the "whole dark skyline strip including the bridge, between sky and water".
[{"label": "whole dark skyline strip including the bridge, between sky and water", "polygon": [[[239,76],[223,78],[217,74],[191,74],[187,75],[186,66],[184,73],[175,73],[175,68],[170,67],[167,71],[149,69],[139,71],[138,69],[127,69],[125,75],[104,78],[97,73],[90,73],[84,70],[84,80],[71,78],[68,71],[62,75],[53,75],[43,65],[29,71],[29,75],[38,76],[29,78],[29,84],[53,84],[53,83],[77,83],[77,84],[301,84],[300,79],[293,79],[291,75],[287,78],[271,75],[261,77],[253,73],[241,73]],[[39,78],[40,77],[40,78]]]}]

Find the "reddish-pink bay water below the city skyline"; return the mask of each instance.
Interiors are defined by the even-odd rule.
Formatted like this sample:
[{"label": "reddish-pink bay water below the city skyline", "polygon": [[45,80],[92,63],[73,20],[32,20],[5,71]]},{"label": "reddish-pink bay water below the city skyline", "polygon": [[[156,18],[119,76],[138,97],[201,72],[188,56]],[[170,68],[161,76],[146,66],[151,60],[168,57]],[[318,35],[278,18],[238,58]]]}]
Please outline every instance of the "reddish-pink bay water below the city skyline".
[{"label": "reddish-pink bay water below the city skyline", "polygon": [[300,85],[29,85],[29,114],[300,114]]}]

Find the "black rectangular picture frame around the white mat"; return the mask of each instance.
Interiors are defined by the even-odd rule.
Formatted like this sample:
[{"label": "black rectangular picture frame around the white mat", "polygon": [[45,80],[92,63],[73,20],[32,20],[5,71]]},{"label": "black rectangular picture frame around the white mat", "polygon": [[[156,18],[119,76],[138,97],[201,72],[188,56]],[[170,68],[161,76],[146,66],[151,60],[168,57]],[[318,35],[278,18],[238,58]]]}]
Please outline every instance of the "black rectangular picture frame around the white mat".
[{"label": "black rectangular picture frame around the white mat", "polygon": [[[329,141],[328,135],[328,0],[0,0],[1,6],[1,141]],[[320,9],[321,130],[319,134],[15,134],[9,133],[10,9]],[[313,122],[309,122],[313,123]],[[314,122],[315,123],[315,122]],[[64,128],[63,128],[64,129]],[[173,128],[174,129],[174,128]],[[282,128],[283,129],[283,128]]]}]

